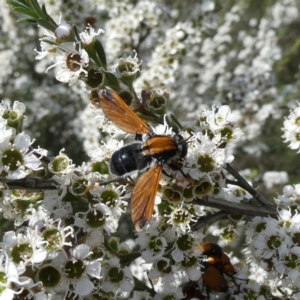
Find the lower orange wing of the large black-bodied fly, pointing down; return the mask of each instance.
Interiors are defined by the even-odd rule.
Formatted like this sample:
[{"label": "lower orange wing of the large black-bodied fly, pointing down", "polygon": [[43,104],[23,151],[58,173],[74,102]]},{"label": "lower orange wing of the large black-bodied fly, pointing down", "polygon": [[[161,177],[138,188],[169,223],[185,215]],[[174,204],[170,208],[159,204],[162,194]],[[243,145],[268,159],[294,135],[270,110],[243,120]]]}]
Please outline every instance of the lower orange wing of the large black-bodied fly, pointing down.
[{"label": "lower orange wing of the large black-bodied fly, pointing down", "polygon": [[131,197],[131,216],[137,231],[143,230],[152,218],[162,169],[162,165],[155,164],[141,175],[134,187]]}]

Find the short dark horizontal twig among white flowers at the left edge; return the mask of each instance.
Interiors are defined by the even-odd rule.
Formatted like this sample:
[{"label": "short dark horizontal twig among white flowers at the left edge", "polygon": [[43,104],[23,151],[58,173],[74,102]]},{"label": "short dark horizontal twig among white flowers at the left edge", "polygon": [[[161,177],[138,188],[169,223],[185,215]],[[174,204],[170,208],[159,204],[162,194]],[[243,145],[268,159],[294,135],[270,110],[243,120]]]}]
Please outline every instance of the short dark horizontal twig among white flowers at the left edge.
[{"label": "short dark horizontal twig among white flowers at the left edge", "polygon": [[6,179],[0,177],[0,182],[8,186],[9,189],[19,190],[56,190],[59,184],[53,179],[25,177],[22,179]]}]

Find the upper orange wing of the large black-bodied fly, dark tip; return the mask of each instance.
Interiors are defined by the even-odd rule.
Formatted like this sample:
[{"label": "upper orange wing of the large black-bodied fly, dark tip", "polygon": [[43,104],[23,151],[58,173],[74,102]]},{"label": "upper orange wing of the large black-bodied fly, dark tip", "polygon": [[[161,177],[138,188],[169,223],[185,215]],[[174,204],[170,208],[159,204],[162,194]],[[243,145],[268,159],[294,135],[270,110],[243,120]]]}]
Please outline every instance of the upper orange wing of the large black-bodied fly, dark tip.
[{"label": "upper orange wing of the large black-bodied fly, dark tip", "polygon": [[131,134],[145,134],[151,131],[116,92],[100,90],[98,99],[107,118],[122,130]]}]

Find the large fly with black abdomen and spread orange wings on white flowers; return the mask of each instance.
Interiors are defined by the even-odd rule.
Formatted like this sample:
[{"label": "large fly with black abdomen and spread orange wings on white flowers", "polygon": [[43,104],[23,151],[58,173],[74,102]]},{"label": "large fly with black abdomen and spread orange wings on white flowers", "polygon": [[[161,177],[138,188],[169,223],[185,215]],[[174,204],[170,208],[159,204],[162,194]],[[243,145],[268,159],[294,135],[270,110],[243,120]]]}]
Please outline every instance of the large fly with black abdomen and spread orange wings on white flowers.
[{"label": "large fly with black abdomen and spread orange wings on white flowers", "polygon": [[[138,231],[149,224],[159,180],[164,164],[187,155],[187,143],[180,134],[173,137],[156,135],[115,92],[103,89],[98,100],[108,119],[122,130],[136,135],[147,134],[145,142],[135,141],[113,153],[110,171],[117,176],[127,176],[133,171],[143,171],[131,198],[131,216]],[[154,164],[153,164],[154,163]]]}]

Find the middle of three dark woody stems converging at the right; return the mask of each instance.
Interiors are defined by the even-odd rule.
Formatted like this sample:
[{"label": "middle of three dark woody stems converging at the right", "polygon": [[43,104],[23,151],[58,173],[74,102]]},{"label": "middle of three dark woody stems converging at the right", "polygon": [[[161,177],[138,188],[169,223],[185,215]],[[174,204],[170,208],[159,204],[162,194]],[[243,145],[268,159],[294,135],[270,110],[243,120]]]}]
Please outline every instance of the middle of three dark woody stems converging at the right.
[{"label": "middle of three dark woody stems converging at the right", "polygon": [[253,206],[230,202],[224,199],[219,199],[212,196],[205,196],[202,199],[196,198],[191,201],[193,204],[213,207],[227,212],[227,214],[241,214],[259,217],[277,217],[277,210],[274,205],[269,206]]}]

